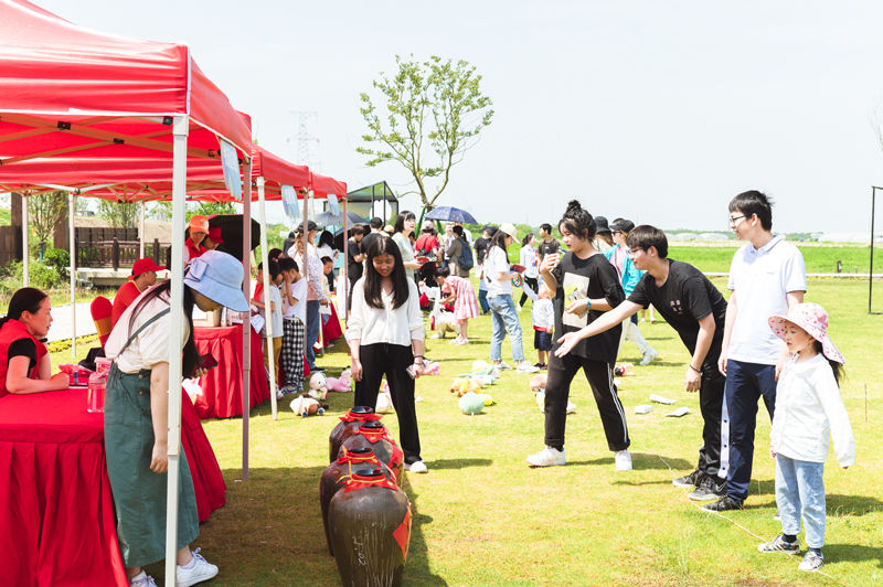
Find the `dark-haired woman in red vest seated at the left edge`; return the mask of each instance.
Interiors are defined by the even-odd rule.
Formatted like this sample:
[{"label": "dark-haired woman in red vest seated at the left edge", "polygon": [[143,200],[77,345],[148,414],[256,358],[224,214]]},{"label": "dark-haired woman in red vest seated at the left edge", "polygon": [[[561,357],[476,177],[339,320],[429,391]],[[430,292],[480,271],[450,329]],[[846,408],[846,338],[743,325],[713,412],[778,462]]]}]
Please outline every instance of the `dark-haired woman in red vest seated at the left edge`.
[{"label": "dark-haired woman in red vest seated at the left edge", "polygon": [[52,305],[43,291],[24,287],[12,295],[0,319],[0,397],[67,388],[67,375],[50,375],[43,339],[52,324]]}]

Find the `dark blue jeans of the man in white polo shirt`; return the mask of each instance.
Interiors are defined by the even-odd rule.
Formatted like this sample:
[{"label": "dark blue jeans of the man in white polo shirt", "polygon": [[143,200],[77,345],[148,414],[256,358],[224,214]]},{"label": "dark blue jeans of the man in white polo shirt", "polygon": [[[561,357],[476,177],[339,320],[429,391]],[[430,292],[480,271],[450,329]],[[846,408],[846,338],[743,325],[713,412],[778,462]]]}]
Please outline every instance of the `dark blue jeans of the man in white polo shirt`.
[{"label": "dark blue jeans of the man in white polo shirt", "polygon": [[726,476],[726,494],[740,503],[748,497],[748,483],[752,480],[754,429],[760,397],[772,420],[776,408],[776,366],[728,360],[721,414],[721,469],[717,476]]}]

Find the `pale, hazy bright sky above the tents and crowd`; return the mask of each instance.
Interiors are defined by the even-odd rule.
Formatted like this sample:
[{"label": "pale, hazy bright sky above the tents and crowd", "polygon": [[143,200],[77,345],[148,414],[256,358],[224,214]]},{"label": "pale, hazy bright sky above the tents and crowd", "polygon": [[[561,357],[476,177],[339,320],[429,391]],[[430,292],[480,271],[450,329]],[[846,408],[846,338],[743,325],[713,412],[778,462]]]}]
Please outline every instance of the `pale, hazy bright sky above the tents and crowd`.
[{"label": "pale, hazy bright sky above the tents and crowd", "polygon": [[776,231],[863,232],[883,185],[879,1],[36,3],[188,43],[259,143],[294,162],[294,113],[317,113],[306,162],[350,189],[413,188],[398,163],[355,152],[359,94],[396,54],[466,60],[494,117],[437,203],[481,223],[555,222],[576,198],[608,218],[725,231],[730,199],[757,189]]}]

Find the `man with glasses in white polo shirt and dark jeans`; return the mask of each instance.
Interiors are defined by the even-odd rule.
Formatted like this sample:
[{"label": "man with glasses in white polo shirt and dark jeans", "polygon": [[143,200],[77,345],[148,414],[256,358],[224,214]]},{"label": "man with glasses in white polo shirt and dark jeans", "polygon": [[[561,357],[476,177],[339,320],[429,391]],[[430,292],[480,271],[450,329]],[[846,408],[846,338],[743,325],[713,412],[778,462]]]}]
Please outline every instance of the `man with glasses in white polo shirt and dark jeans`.
[{"label": "man with glasses in white polo shirt and dark jeans", "polygon": [[763,397],[769,419],[776,405],[776,380],[787,349],[767,320],[788,313],[807,290],[804,256],[773,230],[769,199],[749,191],[730,202],[730,227],[745,245],[733,255],[730,300],[719,367],[726,375],[721,417],[721,468],[726,495],[703,509],[741,510],[748,497],[754,457],[757,401]]}]

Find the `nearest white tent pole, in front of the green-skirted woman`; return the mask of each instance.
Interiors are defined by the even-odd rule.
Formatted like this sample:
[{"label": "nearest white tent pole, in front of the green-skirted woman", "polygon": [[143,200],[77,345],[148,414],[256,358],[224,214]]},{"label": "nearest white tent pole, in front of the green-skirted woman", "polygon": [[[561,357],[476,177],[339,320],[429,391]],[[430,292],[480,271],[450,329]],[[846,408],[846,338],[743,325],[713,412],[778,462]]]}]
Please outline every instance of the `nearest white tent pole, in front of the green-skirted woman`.
[{"label": "nearest white tent pole, in front of the green-skirted woman", "polygon": [[174,587],[178,551],[178,474],[181,467],[181,348],[184,322],[184,198],[187,189],[188,115],[172,122],[172,266],[171,344],[169,344],[169,470],[166,494],[166,587]]}]

